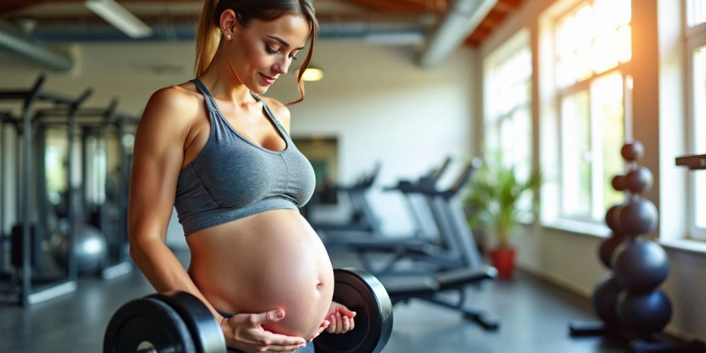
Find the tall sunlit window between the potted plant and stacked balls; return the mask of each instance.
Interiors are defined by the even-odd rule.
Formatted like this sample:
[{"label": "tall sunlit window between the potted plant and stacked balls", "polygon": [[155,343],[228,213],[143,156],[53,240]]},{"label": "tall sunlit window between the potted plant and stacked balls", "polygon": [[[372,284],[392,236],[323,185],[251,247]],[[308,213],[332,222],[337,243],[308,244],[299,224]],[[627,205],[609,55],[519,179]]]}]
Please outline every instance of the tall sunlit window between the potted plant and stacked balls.
[{"label": "tall sunlit window between the potted plant and stacked balls", "polygon": [[[625,142],[625,105],[631,80],[630,0],[585,0],[548,11],[542,49],[549,53],[542,68],[551,70],[548,95],[556,120],[558,164],[552,218],[602,225],[606,209],[624,199],[611,186],[623,172],[620,146]],[[541,85],[542,92],[547,86]],[[544,113],[543,113],[544,114]],[[543,135],[544,136],[544,135]],[[544,143],[543,143],[544,145]],[[549,143],[546,143],[549,145]],[[544,152],[543,152],[544,153]],[[543,164],[544,165],[544,164]],[[543,206],[544,208],[544,206]]]}]

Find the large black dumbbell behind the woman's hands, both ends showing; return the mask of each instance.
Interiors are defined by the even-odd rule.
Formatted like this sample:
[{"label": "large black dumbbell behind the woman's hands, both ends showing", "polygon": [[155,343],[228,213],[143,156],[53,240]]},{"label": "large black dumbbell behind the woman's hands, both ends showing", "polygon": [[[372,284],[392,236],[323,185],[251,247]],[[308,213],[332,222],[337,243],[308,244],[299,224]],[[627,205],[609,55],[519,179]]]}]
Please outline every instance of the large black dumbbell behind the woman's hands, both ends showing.
[{"label": "large black dumbbell behind the woman's hands, both ends showing", "polygon": [[[323,333],[316,352],[377,353],[390,338],[392,303],[381,283],[355,268],[334,270],[333,300],[356,311],[354,330]],[[152,294],[128,302],[113,315],[103,340],[104,353],[225,353],[225,339],[206,306],[186,292]]]}]

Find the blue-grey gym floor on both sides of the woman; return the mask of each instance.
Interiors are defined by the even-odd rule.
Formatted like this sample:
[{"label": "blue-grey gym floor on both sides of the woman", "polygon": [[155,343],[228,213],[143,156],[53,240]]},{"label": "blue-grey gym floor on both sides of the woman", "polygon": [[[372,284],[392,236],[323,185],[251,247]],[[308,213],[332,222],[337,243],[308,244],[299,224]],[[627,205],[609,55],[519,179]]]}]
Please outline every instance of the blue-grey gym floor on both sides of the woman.
[{"label": "blue-grey gym floor on both sides of the woman", "polygon": [[[180,258],[186,258],[180,254]],[[331,254],[335,267],[354,265]],[[104,329],[124,302],[150,294],[138,271],[105,282],[80,281],[76,293],[27,308],[0,306],[0,352],[100,352]],[[469,289],[469,305],[501,321],[488,333],[458,313],[421,301],[395,306],[395,325],[386,353],[397,352],[625,352],[597,337],[570,339],[567,324],[591,318],[587,299],[518,273],[482,290]]]}]

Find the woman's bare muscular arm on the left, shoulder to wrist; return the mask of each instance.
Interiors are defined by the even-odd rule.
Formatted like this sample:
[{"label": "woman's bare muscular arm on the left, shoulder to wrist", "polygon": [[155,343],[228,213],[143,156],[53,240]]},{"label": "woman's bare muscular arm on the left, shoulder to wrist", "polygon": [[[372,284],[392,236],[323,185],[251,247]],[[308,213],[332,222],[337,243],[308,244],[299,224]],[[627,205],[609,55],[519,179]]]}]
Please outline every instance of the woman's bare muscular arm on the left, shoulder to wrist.
[{"label": "woman's bare muscular arm on the left, shoulder to wrist", "polygon": [[[189,131],[189,96],[181,88],[155,92],[135,134],[128,203],[130,255],[157,292],[183,290],[196,295],[217,318],[164,241],[172,217],[184,141]],[[197,104],[191,104],[197,105]]]}]

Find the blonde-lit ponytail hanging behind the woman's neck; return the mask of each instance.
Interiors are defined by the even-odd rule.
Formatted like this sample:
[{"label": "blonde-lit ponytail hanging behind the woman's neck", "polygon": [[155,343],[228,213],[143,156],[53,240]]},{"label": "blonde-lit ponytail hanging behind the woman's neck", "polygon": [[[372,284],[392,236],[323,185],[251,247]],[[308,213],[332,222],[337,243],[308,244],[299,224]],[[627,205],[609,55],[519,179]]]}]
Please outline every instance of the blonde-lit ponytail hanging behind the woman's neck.
[{"label": "blonde-lit ponytail hanging behind the woman's neck", "polygon": [[218,42],[220,42],[220,28],[215,24],[216,5],[218,0],[203,1],[201,16],[198,17],[198,29],[196,30],[196,64],[193,71],[196,76],[201,76],[206,71],[208,65],[213,60]]}]

